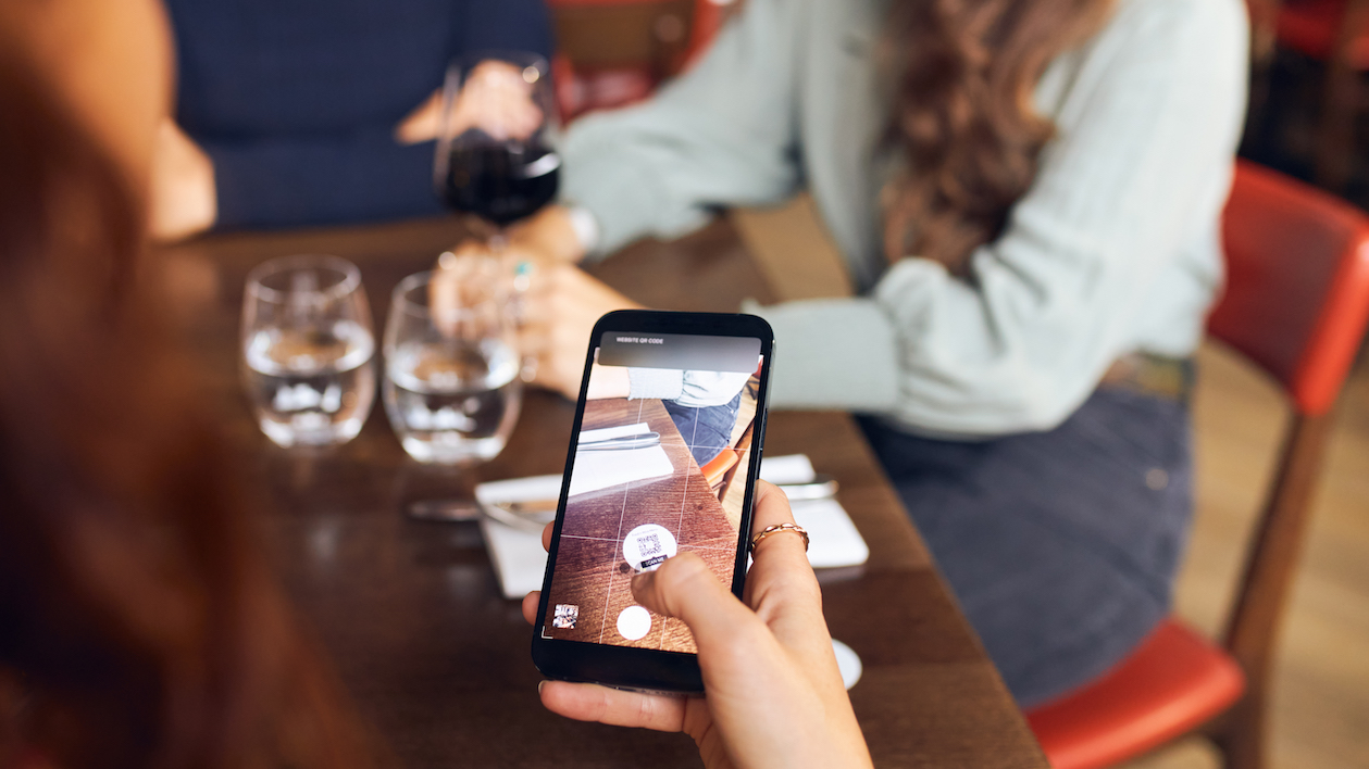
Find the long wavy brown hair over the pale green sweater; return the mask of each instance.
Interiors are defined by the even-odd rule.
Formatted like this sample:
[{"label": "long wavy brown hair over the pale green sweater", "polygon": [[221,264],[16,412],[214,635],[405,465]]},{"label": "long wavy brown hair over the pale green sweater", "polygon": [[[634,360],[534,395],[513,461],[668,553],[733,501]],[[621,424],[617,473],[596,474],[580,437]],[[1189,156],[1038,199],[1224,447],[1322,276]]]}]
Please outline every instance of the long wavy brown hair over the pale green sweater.
[{"label": "long wavy brown hair over the pale green sweater", "polygon": [[1002,231],[1054,127],[1032,92],[1113,0],[894,0],[886,38],[904,171],[886,187],[884,252],[965,272]]}]

